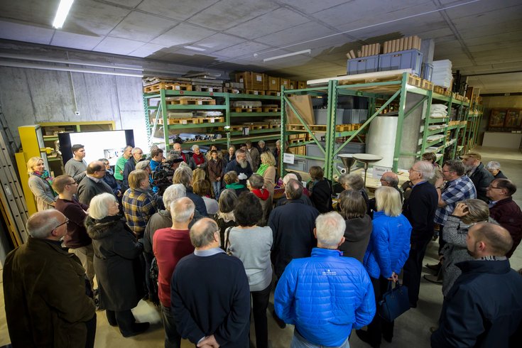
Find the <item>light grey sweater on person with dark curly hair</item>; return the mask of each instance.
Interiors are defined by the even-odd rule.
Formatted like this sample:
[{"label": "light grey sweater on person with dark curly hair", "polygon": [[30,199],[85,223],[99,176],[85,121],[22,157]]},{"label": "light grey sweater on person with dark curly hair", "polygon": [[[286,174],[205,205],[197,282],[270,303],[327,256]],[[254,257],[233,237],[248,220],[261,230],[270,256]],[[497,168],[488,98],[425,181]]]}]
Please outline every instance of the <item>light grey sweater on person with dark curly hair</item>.
[{"label": "light grey sweater on person with dark curly hair", "polygon": [[272,241],[270,227],[246,229],[232,227],[229,231],[227,251],[243,262],[246,276],[249,278],[250,291],[264,290],[272,281],[270,261]]}]

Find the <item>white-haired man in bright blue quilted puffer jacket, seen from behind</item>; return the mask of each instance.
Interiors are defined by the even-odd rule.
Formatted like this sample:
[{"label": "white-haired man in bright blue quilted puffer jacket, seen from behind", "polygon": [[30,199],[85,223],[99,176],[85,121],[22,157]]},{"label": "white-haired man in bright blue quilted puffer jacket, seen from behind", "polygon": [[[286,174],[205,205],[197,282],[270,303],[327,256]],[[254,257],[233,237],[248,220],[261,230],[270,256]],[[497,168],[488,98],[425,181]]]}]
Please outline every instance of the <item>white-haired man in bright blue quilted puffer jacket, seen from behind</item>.
[{"label": "white-haired man in bright blue quilted puffer jacket, seen from behind", "polygon": [[349,347],[352,327],[368,325],[375,315],[374,290],[361,263],[337,250],[346,229],[341,215],[319,215],[315,226],[317,248],[286,266],[274,308],[295,325],[290,347]]}]

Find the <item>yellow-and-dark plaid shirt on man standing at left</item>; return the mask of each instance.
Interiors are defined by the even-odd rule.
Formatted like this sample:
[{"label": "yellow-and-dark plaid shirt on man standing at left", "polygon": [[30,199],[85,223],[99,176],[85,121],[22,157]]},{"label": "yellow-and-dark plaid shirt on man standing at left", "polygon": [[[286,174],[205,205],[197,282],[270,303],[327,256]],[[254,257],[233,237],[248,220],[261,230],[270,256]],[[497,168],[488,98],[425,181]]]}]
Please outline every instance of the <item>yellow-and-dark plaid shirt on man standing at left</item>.
[{"label": "yellow-and-dark plaid shirt on man standing at left", "polygon": [[156,202],[148,192],[131,188],[125,191],[121,202],[127,224],[136,236],[143,236],[148,219],[156,212]]}]

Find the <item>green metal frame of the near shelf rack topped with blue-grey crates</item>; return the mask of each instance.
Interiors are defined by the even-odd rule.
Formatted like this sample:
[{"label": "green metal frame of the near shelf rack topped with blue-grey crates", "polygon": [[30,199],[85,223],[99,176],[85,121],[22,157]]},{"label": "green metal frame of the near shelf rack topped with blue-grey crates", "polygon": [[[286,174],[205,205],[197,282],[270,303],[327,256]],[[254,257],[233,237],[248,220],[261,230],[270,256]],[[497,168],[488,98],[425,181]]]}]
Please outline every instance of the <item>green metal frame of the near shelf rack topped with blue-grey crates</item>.
[{"label": "green metal frame of the near shelf rack topped with blue-grey crates", "polygon": [[[408,82],[413,82],[415,85],[410,84]],[[418,80],[417,80],[418,81]],[[424,85],[423,85],[424,87]],[[413,93],[420,95],[421,98],[418,102],[415,102],[413,106],[408,107],[406,110],[406,99],[408,93]],[[299,114],[298,110],[292,104],[290,99],[288,98],[288,94],[310,94],[310,95],[320,95],[322,97],[327,97],[327,126],[325,132],[325,146],[322,146],[319,139],[313,134],[310,130],[310,126],[303,121],[303,117]],[[336,112],[337,112],[337,97],[339,95],[352,95],[359,97],[368,97],[369,98],[369,117],[368,119],[360,126],[359,129],[354,131],[343,131],[338,132],[335,130],[336,126]],[[380,106],[376,107],[376,99],[384,99],[385,102]],[[332,179],[335,174],[339,174],[339,170],[337,165],[340,164],[340,161],[337,160],[337,154],[340,153],[341,149],[347,145],[354,138],[359,137],[362,134],[365,134],[367,129],[369,128],[369,124],[374,120],[376,116],[379,116],[381,112],[383,112],[388,105],[392,102],[395,102],[398,99],[398,123],[396,128],[396,134],[403,134],[403,123],[404,120],[412,114],[415,110],[421,109],[422,111],[422,119],[424,120],[424,127],[426,131],[423,131],[422,141],[418,144],[418,151],[408,152],[401,150],[401,136],[396,137],[395,146],[393,150],[393,166],[392,170],[398,170],[398,162],[399,158],[420,158],[421,154],[428,148],[430,142],[426,140],[429,132],[428,126],[431,120],[427,115],[430,114],[430,105],[433,99],[445,101],[448,103],[452,103],[458,105],[460,109],[460,114],[465,115],[467,120],[467,107],[469,107],[469,103],[458,101],[457,99],[453,99],[452,97],[445,97],[442,94],[437,94],[433,92],[433,87],[430,87],[430,84],[427,85],[427,89],[422,88],[415,82],[415,79],[410,80],[410,75],[408,72],[403,72],[401,76],[397,79],[393,80],[381,80],[379,82],[355,82],[352,85],[340,85],[337,79],[332,79],[327,82],[327,86],[320,87],[311,87],[307,89],[284,89],[281,95],[281,145],[283,146],[282,151],[286,151],[286,148],[292,147],[293,145],[286,145],[286,138],[288,134],[292,134],[292,131],[288,131],[286,129],[286,106],[292,110],[293,114],[298,118],[300,124],[304,126],[305,131],[308,133],[308,137],[310,141],[295,144],[295,146],[300,146],[305,143],[315,143],[317,144],[320,151],[324,154],[322,158],[315,158],[305,155],[294,155],[297,158],[305,158],[312,160],[321,160],[325,161],[325,177]],[[464,117],[464,116],[463,116]],[[460,129],[460,127],[445,127],[445,131],[452,129]],[[442,132],[442,130],[440,130]],[[467,143],[467,139],[469,136],[466,135],[465,126],[464,126],[464,143]],[[339,148],[335,148],[336,138],[339,137],[347,137],[344,142],[339,146]],[[440,141],[439,141],[440,142]],[[467,143],[468,147],[471,143]],[[444,148],[453,146],[452,154],[455,155],[456,150],[456,140],[450,141],[449,143],[444,143],[440,151],[443,151]],[[283,158],[281,158],[281,168],[285,168],[285,163],[283,163]]]}]

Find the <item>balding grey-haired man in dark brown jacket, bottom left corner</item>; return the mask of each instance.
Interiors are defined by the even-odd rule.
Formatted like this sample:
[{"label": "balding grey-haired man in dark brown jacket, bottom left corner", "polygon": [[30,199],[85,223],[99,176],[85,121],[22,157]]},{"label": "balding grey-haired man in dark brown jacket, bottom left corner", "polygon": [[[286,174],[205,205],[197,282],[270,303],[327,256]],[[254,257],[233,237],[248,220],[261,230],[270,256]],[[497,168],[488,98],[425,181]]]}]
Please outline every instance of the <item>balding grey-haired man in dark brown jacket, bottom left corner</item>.
[{"label": "balding grey-haired man in dark brown jacket, bottom left corner", "polygon": [[61,247],[67,222],[57,210],[33,214],[27,243],[6,257],[4,300],[13,347],[94,347],[92,289],[80,260]]}]

